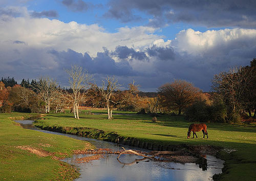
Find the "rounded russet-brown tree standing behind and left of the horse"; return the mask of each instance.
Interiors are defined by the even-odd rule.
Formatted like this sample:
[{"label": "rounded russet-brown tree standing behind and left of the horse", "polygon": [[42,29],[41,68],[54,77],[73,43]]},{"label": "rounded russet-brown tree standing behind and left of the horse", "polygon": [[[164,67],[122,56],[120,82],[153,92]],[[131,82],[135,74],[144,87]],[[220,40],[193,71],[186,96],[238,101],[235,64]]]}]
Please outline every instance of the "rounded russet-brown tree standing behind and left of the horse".
[{"label": "rounded russet-brown tree standing behind and left of the horse", "polygon": [[185,80],[175,80],[158,88],[159,104],[178,110],[178,115],[191,105],[199,93],[199,88]]}]

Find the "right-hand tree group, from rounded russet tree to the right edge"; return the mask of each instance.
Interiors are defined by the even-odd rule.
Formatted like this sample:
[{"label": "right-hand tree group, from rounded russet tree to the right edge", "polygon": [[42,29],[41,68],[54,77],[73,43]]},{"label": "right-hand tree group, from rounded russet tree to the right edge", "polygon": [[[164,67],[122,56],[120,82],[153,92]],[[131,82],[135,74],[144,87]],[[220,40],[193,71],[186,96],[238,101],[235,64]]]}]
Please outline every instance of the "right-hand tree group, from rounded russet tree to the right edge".
[{"label": "right-hand tree group, from rounded russet tree to the right edge", "polygon": [[241,123],[256,119],[256,59],[248,66],[215,75],[212,92],[202,93],[189,82],[175,80],[160,86],[158,97],[162,107],[176,110],[178,115],[183,112],[191,121]]}]

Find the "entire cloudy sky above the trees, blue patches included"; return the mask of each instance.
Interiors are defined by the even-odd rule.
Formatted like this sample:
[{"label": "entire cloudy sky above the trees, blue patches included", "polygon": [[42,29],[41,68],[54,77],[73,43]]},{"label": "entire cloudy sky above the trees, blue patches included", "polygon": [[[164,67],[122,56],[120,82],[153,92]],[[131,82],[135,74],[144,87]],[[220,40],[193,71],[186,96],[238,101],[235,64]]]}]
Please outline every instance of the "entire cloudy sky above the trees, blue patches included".
[{"label": "entire cloudy sky above the trees, blue patches included", "polygon": [[177,79],[211,90],[215,74],[256,57],[252,0],[1,0],[0,77],[68,86],[82,66],[144,92]]}]

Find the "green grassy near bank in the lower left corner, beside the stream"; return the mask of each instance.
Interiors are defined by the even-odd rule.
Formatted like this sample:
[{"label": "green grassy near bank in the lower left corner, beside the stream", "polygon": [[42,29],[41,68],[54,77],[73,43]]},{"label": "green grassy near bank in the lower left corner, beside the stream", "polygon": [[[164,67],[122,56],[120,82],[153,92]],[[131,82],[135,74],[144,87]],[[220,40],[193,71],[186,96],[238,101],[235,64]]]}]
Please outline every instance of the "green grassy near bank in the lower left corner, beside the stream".
[{"label": "green grassy near bank in the lower left corner, beside the stream", "polygon": [[74,149],[92,145],[35,130],[23,129],[12,120],[32,114],[0,114],[0,180],[70,180],[79,175],[59,157],[69,156]]}]

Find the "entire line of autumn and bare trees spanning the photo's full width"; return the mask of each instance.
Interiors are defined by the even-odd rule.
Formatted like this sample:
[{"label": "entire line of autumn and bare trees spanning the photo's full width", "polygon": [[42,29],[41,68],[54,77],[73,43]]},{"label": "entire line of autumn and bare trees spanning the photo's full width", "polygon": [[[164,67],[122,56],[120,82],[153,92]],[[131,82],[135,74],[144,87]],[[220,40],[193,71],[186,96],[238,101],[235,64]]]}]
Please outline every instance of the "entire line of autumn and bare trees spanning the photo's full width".
[{"label": "entire line of autumn and bare trees spanning the photo's full width", "polygon": [[[138,111],[141,114],[185,115],[199,122],[240,123],[248,112],[256,109],[256,59],[250,65],[233,67],[212,79],[212,92],[203,93],[185,80],[175,80],[158,88],[157,93],[139,92],[139,85],[129,84],[120,90],[115,77],[106,77],[101,86],[92,82],[92,75],[80,66],[67,70],[70,88],[61,88],[56,80],[39,77],[38,81],[3,78],[0,82],[1,112],[61,112],[70,108],[79,119],[79,106],[104,107],[108,119],[113,109]],[[255,114],[253,115],[255,119]]]}]

